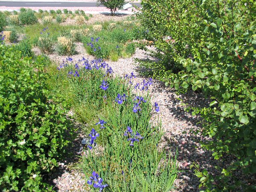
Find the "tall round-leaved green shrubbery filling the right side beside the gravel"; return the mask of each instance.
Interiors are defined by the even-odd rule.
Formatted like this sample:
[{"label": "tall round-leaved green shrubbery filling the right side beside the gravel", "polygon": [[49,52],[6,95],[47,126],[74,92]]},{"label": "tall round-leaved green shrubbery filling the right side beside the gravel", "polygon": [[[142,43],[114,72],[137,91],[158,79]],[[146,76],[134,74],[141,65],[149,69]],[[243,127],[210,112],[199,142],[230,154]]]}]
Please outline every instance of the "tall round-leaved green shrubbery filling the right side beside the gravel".
[{"label": "tall round-leaved green shrubbery filling the right side beside the gravel", "polygon": [[[143,0],[142,24],[149,29],[163,62],[148,63],[152,76],[180,91],[200,90],[212,102],[192,109],[204,118],[202,143],[215,159],[237,159],[212,177],[201,174],[207,191],[254,191],[236,177],[256,173],[256,3],[244,0]],[[160,55],[160,54],[158,54]],[[166,55],[166,56],[165,56]],[[198,169],[199,170],[199,169]]]}]

